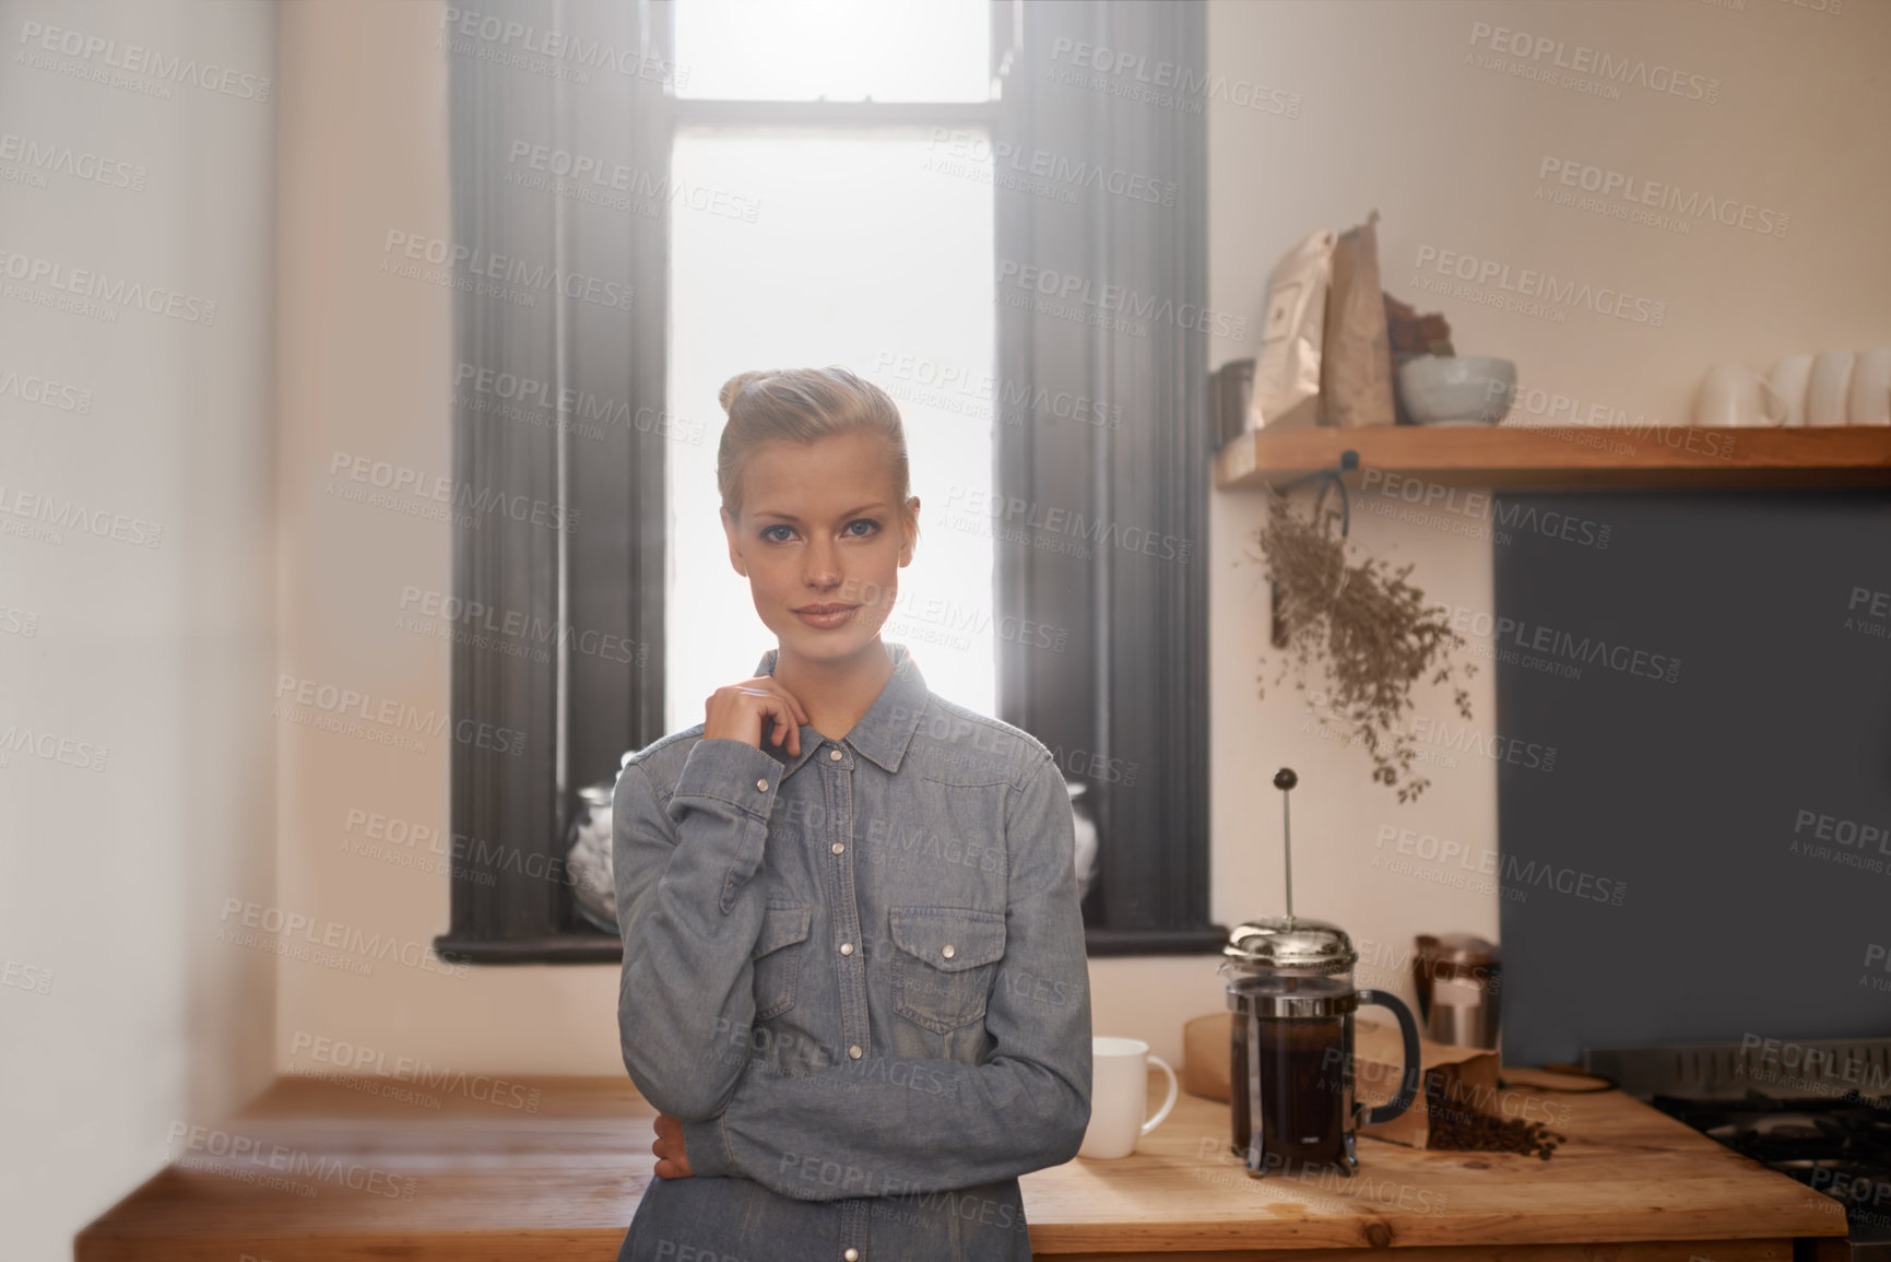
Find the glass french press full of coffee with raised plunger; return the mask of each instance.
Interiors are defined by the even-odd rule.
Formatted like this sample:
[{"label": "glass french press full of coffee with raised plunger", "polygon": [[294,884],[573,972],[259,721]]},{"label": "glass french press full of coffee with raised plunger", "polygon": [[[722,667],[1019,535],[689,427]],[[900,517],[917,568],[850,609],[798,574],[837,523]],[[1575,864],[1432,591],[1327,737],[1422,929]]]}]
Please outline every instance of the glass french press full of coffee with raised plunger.
[{"label": "glass french press full of coffee with raised plunger", "polygon": [[[1377,1126],[1405,1113],[1418,1095],[1422,1061],[1418,1022],[1392,993],[1356,990],[1360,954],[1339,925],[1293,916],[1293,855],[1286,793],[1299,783],[1280,768],[1282,844],[1286,848],[1286,916],[1261,916],[1237,927],[1222,948],[1220,973],[1233,1010],[1229,1086],[1233,1150],[1246,1156],[1250,1177],[1269,1169],[1360,1167],[1358,1126]],[[1399,1094],[1367,1109],[1352,1099],[1352,1014],[1390,1008],[1399,1020],[1405,1065]]]}]

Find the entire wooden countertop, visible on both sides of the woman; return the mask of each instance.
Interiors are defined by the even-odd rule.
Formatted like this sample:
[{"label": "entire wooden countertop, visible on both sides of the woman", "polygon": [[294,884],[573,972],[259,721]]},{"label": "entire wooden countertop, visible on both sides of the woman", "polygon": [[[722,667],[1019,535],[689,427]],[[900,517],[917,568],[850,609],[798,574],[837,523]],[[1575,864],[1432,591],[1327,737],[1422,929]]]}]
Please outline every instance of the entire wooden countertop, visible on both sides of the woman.
[{"label": "entire wooden countertop, visible on both sides of the woman", "polygon": [[[1617,1262],[1791,1262],[1795,1236],[1846,1234],[1838,1201],[1621,1092],[1511,1092],[1505,1105],[1568,1145],[1543,1162],[1362,1137],[1352,1181],[1305,1183],[1248,1179],[1222,1156],[1227,1105],[1184,1094],[1135,1156],[1025,1175],[1031,1247],[1065,1262],[1343,1262],[1384,1247],[1411,1262],[1564,1262],[1602,1243],[1624,1245]],[[654,1177],[652,1113],[628,1078],[278,1078],[176,1139],[172,1164],[87,1226],[74,1258],[611,1262]]]}]

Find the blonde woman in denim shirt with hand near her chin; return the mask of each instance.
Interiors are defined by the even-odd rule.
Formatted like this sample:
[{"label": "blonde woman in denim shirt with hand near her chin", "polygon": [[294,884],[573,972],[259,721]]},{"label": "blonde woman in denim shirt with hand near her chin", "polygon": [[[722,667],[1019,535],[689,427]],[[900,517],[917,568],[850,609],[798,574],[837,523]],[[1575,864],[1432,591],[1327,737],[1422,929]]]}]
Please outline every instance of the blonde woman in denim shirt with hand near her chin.
[{"label": "blonde woman in denim shirt with hand near her chin", "polygon": [[919,500],[893,399],[741,373],[717,456],[779,645],[613,798],[624,1067],[658,1111],[620,1262],[1029,1258],[1091,1035],[1070,798],[883,643]]}]

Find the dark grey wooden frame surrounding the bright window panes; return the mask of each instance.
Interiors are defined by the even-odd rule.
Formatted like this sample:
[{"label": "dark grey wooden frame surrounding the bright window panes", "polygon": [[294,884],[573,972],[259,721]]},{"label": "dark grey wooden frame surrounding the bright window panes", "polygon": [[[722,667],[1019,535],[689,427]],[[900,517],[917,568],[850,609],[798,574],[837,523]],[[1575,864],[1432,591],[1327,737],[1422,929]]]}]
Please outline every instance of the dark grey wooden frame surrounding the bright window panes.
[{"label": "dark grey wooden frame surrounding the bright window panes", "polygon": [[[552,0],[505,0],[507,17],[548,23]],[[1027,11],[1036,9],[1036,11]],[[1059,123],[1085,123],[1101,102],[1032,110],[1027,55],[1031,40],[1050,47],[1050,23],[1095,26],[1108,45],[1178,42],[1176,59],[1201,66],[1205,17],[1180,17],[1159,0],[1087,6],[1023,6],[991,0],[991,66],[998,85],[989,102],[743,102],[690,100],[668,91],[662,74],[618,85],[620,115],[573,108],[573,89],[505,78],[509,68],[452,61],[454,238],[497,252],[550,242],[573,272],[633,278],[630,312],[598,310],[554,299],[552,329],[495,312],[477,293],[456,293],[458,361],[543,378],[560,390],[607,399],[639,422],[666,414],[668,201],[652,218],[624,225],[554,199],[520,210],[495,195],[497,138],[518,131],[512,115],[552,119],[548,131],[573,151],[630,153],[635,170],[668,176],[675,132],[685,127],[983,127],[1012,151],[1044,148]],[[562,9],[562,6],[560,6]],[[609,9],[609,13],[607,13]],[[1057,11],[1051,17],[1051,11]],[[635,0],[596,6],[582,21],[615,47],[662,49],[673,64],[669,6]],[[562,9],[571,25],[571,9]],[[618,23],[618,26],[611,26]],[[1112,34],[1114,30],[1114,34]],[[586,91],[586,89],[577,89]],[[601,121],[599,121],[601,119]],[[1176,303],[1205,303],[1206,172],[1199,119],[1163,119],[1165,134],[1146,142],[1146,163],[1172,163],[1178,204],[1161,282]],[[1163,129],[1157,129],[1159,132]],[[1169,132],[1176,153],[1150,153]],[[590,146],[590,148],[584,148]],[[1067,146],[1068,148],[1068,146]],[[997,252],[1036,257],[1036,242],[1082,231],[1101,242],[1133,206],[1106,206],[1080,229],[1042,221],[1046,199],[995,189]],[[1131,225],[1133,227],[1133,225]],[[1148,242],[1144,242],[1148,244]],[[1172,257],[1169,257],[1172,255]],[[1121,259],[1110,259],[1121,263]],[[1106,263],[1097,271],[1108,272]],[[543,324],[543,318],[541,322]],[[1176,333],[1182,333],[1176,337]],[[550,337],[552,346],[543,344]],[[1085,899],[1085,937],[1093,955],[1216,952],[1225,929],[1208,923],[1206,831],[1206,558],[1203,528],[1210,482],[1206,416],[1206,339],[1163,329],[1159,346],[1121,354],[1110,337],[1091,335],[1084,354],[1055,354],[1065,331],[1000,303],[993,377],[1032,382],[1051,394],[1074,388],[1121,407],[1121,429],[1076,431],[1055,424],[995,426],[995,488],[1025,501],[1048,500],[1146,535],[1180,539],[1189,562],[1093,547],[1076,570],[1046,566],[1036,547],[997,547],[995,613],[1021,624],[1074,632],[1055,655],[1021,638],[1000,640],[998,717],[1040,736],[1070,780],[1089,785],[1085,800],[1099,823],[1099,878]],[[630,346],[630,356],[624,356]],[[1140,361],[1138,361],[1140,356]],[[1154,377],[1150,375],[1154,363]],[[1133,382],[1152,384],[1140,394]],[[1112,386],[1114,382],[1114,386]],[[1112,394],[1114,390],[1114,394]],[[1157,392],[1163,392],[1157,395]],[[1140,397],[1142,407],[1121,403]],[[1159,405],[1159,401],[1167,407]],[[995,414],[1002,409],[993,403]],[[1171,411],[1172,409],[1172,411]],[[1163,420],[1157,420],[1163,418]],[[1136,422],[1144,424],[1136,424]],[[435,938],[442,957],[473,963],[611,963],[618,938],[582,920],[564,868],[579,789],[616,774],[626,749],[664,736],[664,566],[668,554],[662,426],[611,426],[596,448],[579,450],[567,428],[520,428],[454,405],[454,477],[467,486],[503,486],[543,496],[579,530],[545,532],[531,524],[458,522],[454,594],[465,607],[518,611],[573,632],[535,655],[495,653],[473,636],[452,641],[450,812],[454,865],[450,929]],[[1112,437],[1114,435],[1114,437]],[[546,537],[550,535],[550,537]],[[584,651],[615,643],[618,653]],[[618,660],[628,657],[630,660]],[[584,706],[573,704],[584,698]],[[607,698],[607,704],[598,704]],[[522,732],[520,749],[490,747],[480,732]],[[484,745],[484,747],[482,747]],[[1159,755],[1159,757],[1157,757]],[[1129,770],[1125,778],[1125,768]],[[1140,776],[1135,772],[1140,770]]]}]

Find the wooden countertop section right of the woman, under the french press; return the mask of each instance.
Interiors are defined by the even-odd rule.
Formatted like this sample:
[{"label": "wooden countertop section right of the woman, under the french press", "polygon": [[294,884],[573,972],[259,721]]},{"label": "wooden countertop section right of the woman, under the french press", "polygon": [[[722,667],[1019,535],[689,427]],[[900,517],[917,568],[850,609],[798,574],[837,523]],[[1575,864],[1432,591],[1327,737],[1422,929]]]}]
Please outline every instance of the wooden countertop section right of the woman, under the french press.
[{"label": "wooden countertop section right of the woman, under the french press", "polygon": [[[1150,1113],[1167,1080],[1152,1075]],[[1116,1162],[1068,1162],[1023,1179],[1034,1253],[1059,1262],[1365,1256],[1791,1262],[1793,1237],[1836,1237],[1836,1200],[1766,1169],[1622,1092],[1500,1092],[1503,1116],[1568,1137],[1545,1162],[1515,1152],[1420,1150],[1362,1135],[1360,1169],[1250,1179],[1229,1147],[1227,1105],[1182,1094]],[[1607,1247],[1598,1254],[1594,1247]],[[1815,1251],[1817,1253],[1817,1251]],[[1819,1253],[1825,1256],[1825,1253]],[[1842,1256],[1842,1254],[1840,1254]]]}]

